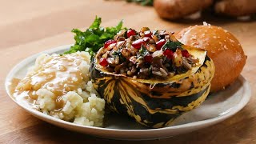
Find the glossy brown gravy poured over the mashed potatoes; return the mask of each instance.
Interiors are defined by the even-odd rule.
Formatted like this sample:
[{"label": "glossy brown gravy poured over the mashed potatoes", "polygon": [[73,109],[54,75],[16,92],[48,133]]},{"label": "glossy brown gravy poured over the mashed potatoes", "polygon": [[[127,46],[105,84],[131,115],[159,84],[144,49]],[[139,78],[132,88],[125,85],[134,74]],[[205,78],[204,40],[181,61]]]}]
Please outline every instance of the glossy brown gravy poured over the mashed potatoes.
[{"label": "glossy brown gravy poured over the mashed potatoes", "polygon": [[22,80],[12,79],[10,94],[17,100],[26,99],[34,104],[38,99],[39,89],[47,89],[54,93],[56,107],[54,111],[62,109],[62,96],[69,91],[82,87],[82,71],[78,68],[83,58],[73,55],[53,54],[46,58],[46,62],[26,74]]}]

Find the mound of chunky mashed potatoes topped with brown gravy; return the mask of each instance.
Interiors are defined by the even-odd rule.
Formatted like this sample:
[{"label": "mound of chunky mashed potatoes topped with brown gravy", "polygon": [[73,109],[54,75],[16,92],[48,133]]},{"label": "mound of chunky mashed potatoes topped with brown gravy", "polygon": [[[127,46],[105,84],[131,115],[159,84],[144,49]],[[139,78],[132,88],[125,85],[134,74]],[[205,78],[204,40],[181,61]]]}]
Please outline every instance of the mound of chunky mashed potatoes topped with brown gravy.
[{"label": "mound of chunky mashed potatoes topped with brown gravy", "polygon": [[85,126],[102,126],[105,101],[89,79],[90,54],[42,54],[16,87],[44,114]]}]

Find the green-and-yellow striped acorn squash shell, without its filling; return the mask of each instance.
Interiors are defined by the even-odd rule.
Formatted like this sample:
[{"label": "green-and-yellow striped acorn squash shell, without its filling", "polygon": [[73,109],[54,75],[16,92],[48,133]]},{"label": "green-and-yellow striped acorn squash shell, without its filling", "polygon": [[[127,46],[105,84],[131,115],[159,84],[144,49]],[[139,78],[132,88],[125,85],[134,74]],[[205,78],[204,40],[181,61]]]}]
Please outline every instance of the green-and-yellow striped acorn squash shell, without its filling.
[{"label": "green-and-yellow striped acorn squash shell, without its filling", "polygon": [[184,45],[182,48],[199,59],[198,64],[185,74],[165,80],[130,78],[104,70],[96,54],[90,67],[90,78],[110,110],[130,115],[145,126],[170,126],[175,118],[204,102],[214,76],[214,62],[205,50]]}]

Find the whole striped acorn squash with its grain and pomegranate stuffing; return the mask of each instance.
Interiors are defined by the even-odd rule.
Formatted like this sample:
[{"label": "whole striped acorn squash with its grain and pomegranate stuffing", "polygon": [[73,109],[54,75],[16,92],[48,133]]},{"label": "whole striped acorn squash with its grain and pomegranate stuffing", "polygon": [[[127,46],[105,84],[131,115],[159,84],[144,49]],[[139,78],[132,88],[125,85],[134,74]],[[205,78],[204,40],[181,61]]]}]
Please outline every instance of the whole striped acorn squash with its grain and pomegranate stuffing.
[{"label": "whole striped acorn squash with its grain and pomegranate stuffing", "polygon": [[209,94],[214,62],[172,33],[122,30],[94,56],[90,78],[106,106],[149,127],[169,126]]}]

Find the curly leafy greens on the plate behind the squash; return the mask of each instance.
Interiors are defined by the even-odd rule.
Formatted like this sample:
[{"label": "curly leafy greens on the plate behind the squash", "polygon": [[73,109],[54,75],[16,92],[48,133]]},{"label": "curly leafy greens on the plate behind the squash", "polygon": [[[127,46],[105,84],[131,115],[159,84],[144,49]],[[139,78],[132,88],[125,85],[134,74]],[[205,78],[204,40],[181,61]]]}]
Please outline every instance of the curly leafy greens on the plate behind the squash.
[{"label": "curly leafy greens on the plate behind the squash", "polygon": [[86,31],[73,29],[72,32],[75,34],[74,46],[71,46],[70,50],[64,54],[75,53],[77,51],[87,51],[90,55],[94,55],[109,39],[113,39],[120,30],[126,29],[122,27],[122,21],[118,23],[118,26],[114,27],[102,27],[102,18],[94,19],[94,22]]}]

